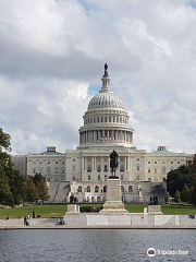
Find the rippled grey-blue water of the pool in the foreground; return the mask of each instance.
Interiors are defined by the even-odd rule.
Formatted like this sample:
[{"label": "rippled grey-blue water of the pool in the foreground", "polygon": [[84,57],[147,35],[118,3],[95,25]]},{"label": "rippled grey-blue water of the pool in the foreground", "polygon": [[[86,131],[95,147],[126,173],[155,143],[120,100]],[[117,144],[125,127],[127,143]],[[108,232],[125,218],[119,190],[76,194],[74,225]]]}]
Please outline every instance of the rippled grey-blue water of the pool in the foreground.
[{"label": "rippled grey-blue water of the pool in the foreground", "polygon": [[[0,261],[196,261],[195,230],[36,229],[1,230]],[[147,249],[188,250],[188,255],[156,255]]]}]

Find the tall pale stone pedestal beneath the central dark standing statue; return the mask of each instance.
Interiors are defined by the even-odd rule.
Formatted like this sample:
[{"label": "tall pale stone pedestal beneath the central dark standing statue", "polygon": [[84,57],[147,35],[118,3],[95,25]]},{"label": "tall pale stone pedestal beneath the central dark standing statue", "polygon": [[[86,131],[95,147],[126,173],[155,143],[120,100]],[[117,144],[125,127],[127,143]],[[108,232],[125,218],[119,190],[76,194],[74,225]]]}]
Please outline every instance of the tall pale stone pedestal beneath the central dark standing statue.
[{"label": "tall pale stone pedestal beneath the central dark standing statue", "polygon": [[127,211],[124,209],[121,196],[121,180],[120,179],[108,179],[107,184],[107,201],[103,204],[103,209],[100,211],[101,214],[124,214]]}]

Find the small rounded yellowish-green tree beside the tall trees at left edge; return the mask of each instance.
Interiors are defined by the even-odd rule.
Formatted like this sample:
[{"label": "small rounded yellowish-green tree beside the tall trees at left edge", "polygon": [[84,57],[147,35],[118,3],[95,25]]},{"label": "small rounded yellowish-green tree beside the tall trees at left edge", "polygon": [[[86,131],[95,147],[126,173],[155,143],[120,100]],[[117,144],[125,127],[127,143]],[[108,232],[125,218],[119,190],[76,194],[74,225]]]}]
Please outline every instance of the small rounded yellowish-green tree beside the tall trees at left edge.
[{"label": "small rounded yellowish-green tree beside the tall trees at left edge", "polygon": [[37,188],[32,178],[24,184],[24,199],[26,202],[36,202],[38,200]]}]

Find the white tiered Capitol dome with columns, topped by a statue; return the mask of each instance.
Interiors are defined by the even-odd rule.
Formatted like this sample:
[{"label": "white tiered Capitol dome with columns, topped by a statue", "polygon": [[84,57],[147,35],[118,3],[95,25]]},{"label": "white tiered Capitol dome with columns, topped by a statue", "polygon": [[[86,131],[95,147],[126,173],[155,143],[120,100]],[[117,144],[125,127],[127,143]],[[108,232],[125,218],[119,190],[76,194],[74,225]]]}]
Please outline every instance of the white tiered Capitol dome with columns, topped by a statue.
[{"label": "white tiered Capitol dome with columns, topped by a statue", "polygon": [[102,86],[84,114],[84,126],[79,128],[79,147],[133,145],[133,128],[128,126],[128,115],[124,103],[110,90],[108,64],[105,64]]}]

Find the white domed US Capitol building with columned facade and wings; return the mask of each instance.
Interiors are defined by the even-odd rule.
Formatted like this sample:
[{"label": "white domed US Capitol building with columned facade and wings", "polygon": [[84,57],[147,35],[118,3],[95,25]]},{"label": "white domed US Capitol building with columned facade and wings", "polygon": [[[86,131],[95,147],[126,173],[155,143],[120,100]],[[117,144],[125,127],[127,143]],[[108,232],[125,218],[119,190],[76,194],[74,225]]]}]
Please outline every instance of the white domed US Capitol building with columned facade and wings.
[{"label": "white domed US Capitol building with columned facade and wings", "polygon": [[[107,64],[101,81],[101,90],[83,116],[77,148],[59,153],[54,146],[48,146],[44,153],[28,154],[26,175],[40,172],[46,177],[51,202],[69,201],[72,193],[79,202],[105,201],[107,179],[111,175],[109,155],[115,150],[123,201],[148,201],[155,193],[163,199],[167,174],[181,165],[189,165],[193,155],[172,153],[166,146],[158,146],[149,154],[137,150],[125,106],[110,88]],[[13,157],[13,162],[19,165],[20,157]]]}]

